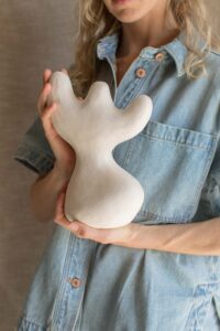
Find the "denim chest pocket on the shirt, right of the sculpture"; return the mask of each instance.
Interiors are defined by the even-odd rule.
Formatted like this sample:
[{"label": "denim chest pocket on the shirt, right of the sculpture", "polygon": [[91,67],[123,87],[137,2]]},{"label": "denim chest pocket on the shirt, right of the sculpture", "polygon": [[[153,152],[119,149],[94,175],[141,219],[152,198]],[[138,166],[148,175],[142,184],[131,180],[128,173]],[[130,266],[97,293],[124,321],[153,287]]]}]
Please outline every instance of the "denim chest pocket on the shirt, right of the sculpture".
[{"label": "denim chest pocket on the shirt, right of the sculpture", "polygon": [[118,145],[114,160],[144,189],[133,222],[185,223],[197,210],[217,137],[148,121],[134,138]]}]

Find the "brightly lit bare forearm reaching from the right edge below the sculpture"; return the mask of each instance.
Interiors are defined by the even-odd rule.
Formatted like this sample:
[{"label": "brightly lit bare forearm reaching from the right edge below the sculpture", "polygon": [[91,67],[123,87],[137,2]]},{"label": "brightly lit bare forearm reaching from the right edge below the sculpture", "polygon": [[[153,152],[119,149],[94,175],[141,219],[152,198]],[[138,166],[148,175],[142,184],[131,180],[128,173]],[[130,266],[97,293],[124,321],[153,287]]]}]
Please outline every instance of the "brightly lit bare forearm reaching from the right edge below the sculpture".
[{"label": "brightly lit bare forearm reaching from the right edge below the sculpture", "polygon": [[188,224],[142,225],[134,247],[191,255],[220,255],[220,217]]}]

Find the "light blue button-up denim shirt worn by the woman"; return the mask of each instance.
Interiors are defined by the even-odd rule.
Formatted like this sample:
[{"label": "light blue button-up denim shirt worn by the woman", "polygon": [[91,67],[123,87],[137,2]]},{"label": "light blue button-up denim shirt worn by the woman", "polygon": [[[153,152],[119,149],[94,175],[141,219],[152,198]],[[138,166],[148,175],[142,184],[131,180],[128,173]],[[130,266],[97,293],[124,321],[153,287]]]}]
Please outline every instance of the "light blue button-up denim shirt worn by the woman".
[{"label": "light blue button-up denim shirt worn by the woman", "polygon": [[[98,42],[97,81],[109,84],[120,109],[140,94],[153,100],[148,124],[113,149],[114,160],[145,192],[132,222],[163,226],[220,216],[220,54],[209,53],[207,75],[189,81],[179,34],[157,49],[142,49],[117,86],[118,38],[114,33]],[[41,174],[53,168],[38,116],[14,159]],[[215,331],[220,330],[217,313],[219,256],[105,245],[56,225],[18,330]]]}]

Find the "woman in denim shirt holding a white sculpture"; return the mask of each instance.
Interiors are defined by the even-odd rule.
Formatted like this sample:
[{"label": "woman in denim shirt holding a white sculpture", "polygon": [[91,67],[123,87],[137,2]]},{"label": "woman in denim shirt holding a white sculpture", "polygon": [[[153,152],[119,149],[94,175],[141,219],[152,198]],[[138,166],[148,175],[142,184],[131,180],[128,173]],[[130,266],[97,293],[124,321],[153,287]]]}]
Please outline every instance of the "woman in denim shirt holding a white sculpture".
[{"label": "woman in denim shirt holding a white sculpture", "polygon": [[[55,131],[44,72],[38,116],[15,159],[40,175],[32,207],[57,223],[18,330],[220,329],[220,54],[201,0],[80,0],[78,97],[106,81],[118,108],[147,94],[153,114],[116,161],[145,190],[134,220],[96,229],[64,216],[76,154]],[[84,220],[81,220],[84,221]]]}]

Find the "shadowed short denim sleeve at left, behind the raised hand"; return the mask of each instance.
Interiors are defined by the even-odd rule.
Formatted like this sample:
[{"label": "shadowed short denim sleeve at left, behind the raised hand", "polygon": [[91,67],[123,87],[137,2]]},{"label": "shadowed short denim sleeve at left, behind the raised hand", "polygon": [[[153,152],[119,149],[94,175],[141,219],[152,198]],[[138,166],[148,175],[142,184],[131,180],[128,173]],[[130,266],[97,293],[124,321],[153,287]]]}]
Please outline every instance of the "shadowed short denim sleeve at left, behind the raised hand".
[{"label": "shadowed short denim sleeve at left, behind the raised hand", "polygon": [[46,174],[53,168],[55,157],[38,115],[18,145],[13,159],[38,174]]}]

